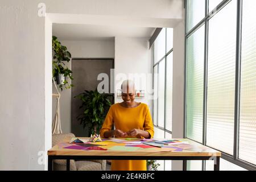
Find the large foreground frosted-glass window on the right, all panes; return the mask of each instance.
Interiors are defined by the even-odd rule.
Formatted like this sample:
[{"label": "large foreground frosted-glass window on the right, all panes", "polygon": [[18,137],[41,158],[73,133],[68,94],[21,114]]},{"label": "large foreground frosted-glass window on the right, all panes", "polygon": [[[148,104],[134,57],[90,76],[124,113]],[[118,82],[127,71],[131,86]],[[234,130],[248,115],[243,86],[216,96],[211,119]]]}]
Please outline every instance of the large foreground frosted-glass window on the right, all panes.
[{"label": "large foreground frosted-glass window on the right, all panes", "polygon": [[221,151],[221,170],[256,170],[255,9],[254,0],[187,0],[185,135]]}]

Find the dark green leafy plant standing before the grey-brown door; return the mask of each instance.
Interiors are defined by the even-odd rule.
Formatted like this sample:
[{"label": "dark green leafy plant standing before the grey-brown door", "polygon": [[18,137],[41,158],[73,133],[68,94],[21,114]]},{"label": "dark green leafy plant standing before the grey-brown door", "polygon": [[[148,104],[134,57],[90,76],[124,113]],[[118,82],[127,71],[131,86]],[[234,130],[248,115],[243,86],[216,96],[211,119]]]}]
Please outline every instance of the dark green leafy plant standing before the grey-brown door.
[{"label": "dark green leafy plant standing before the grey-brown door", "polygon": [[[90,133],[99,133],[102,123],[106,117],[106,114],[111,106],[109,97],[113,97],[112,94],[99,93],[96,90],[88,91],[75,96],[82,101],[82,105],[79,109],[82,109],[82,113],[77,116],[81,125],[85,128],[88,127]],[[90,137],[90,133],[89,136]]]}]

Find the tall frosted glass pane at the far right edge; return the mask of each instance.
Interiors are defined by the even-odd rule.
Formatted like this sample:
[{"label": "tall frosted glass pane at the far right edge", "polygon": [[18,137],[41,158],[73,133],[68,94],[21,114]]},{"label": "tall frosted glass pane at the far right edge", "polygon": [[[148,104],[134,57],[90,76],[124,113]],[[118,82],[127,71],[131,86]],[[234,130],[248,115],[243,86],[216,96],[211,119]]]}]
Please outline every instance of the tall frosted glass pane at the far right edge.
[{"label": "tall frosted glass pane at the far right edge", "polygon": [[256,1],[243,1],[239,158],[256,164]]}]

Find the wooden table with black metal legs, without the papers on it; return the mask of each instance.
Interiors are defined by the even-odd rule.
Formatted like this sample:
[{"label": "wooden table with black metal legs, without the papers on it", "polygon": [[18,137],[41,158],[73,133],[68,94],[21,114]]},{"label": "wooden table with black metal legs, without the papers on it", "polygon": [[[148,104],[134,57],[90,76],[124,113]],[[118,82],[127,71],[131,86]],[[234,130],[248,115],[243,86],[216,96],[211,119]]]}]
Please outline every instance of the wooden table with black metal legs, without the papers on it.
[{"label": "wooden table with black metal legs, without the papers on it", "polygon": [[[82,138],[82,137],[81,137]],[[85,138],[86,139],[86,138]],[[115,138],[116,139],[116,138]],[[65,138],[63,144],[67,143],[71,138]],[[52,171],[54,159],[67,160],[67,171],[69,171],[70,160],[183,160],[186,164],[187,160],[214,160],[214,171],[220,170],[221,152],[213,150],[207,146],[203,146],[189,139],[177,139],[188,142],[188,144],[175,144],[175,151],[99,151],[99,150],[75,150],[61,148],[60,144],[56,144],[48,150],[48,171]],[[186,147],[187,146],[187,147]],[[159,150],[158,147],[154,147]],[[181,148],[181,149],[179,149]],[[185,165],[183,166],[185,170]]]}]

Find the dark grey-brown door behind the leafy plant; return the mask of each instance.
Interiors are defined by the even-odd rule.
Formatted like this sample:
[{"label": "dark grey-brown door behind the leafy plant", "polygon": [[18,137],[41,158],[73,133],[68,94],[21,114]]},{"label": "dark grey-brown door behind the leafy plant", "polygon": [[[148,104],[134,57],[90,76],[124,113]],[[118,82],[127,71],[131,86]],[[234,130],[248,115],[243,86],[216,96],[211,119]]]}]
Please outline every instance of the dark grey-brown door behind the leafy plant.
[{"label": "dark grey-brown door behind the leafy plant", "polygon": [[[113,59],[72,59],[72,72],[74,80],[72,84],[72,133],[76,137],[88,137],[88,129],[83,129],[77,116],[82,113],[81,101],[74,98],[84,90],[95,90],[98,83],[97,80],[100,73],[106,73],[109,76],[109,92],[110,92],[110,69],[114,68]],[[112,100],[113,103],[113,100]]]}]

